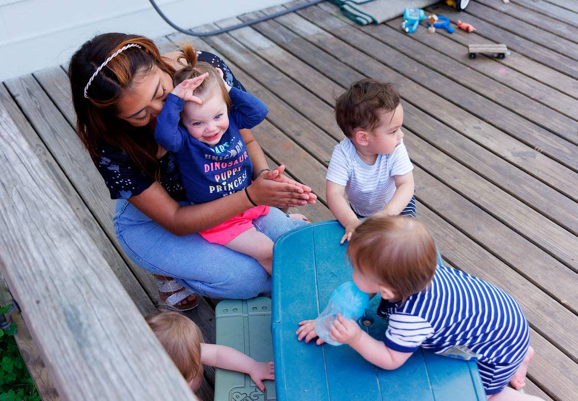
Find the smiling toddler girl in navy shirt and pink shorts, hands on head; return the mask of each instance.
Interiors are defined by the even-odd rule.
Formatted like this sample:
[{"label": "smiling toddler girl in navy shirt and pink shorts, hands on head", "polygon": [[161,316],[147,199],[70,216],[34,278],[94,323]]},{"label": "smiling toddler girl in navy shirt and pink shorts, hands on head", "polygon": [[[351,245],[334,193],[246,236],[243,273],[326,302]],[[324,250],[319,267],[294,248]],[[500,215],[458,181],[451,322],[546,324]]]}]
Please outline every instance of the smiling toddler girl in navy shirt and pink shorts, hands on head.
[{"label": "smiling toddler girl in navy shirt and pink shorts, hands on head", "polygon": [[[209,242],[257,259],[271,274],[273,242],[253,225],[255,218],[269,213],[269,206],[257,206],[247,191],[253,177],[250,146],[261,150],[248,131],[239,131],[263,121],[267,107],[255,96],[228,86],[221,70],[197,62],[192,46],[181,50],[179,62],[184,59],[188,65],[181,62],[184,68],[175,73],[175,89],[157,117],[154,137],[166,150],[176,153],[192,203],[246,192],[255,207],[199,234]],[[255,178],[264,170],[268,169],[262,169]],[[306,220],[302,215],[295,218]]]}]

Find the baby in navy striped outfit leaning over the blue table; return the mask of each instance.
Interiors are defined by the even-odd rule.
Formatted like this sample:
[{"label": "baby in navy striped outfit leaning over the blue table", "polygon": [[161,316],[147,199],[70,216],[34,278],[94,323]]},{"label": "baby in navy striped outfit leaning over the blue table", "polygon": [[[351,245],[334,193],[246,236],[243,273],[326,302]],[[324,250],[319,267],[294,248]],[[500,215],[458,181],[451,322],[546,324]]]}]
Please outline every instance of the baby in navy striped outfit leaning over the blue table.
[{"label": "baby in navy striped outfit leaning over the blue table", "polygon": [[[369,217],[355,229],[347,255],[357,287],[381,294],[377,314],[389,325],[377,340],[338,314],[331,339],[349,344],[383,369],[397,369],[420,347],[442,355],[465,347],[476,354],[488,399],[539,400],[506,387],[524,387],[533,357],[520,305],[503,289],[438,263],[435,243],[423,224],[411,218]],[[317,336],[314,323],[299,322],[299,340]]]}]

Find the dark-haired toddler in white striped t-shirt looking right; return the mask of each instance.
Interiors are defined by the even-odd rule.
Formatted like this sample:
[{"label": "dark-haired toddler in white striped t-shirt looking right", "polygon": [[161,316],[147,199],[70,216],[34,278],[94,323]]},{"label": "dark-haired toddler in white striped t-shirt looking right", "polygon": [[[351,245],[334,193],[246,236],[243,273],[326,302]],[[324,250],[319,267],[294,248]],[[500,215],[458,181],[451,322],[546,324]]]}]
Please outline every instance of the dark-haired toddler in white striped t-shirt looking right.
[{"label": "dark-haired toddler in white striped t-shirt looking right", "polygon": [[[336,101],[335,119],[346,138],[327,169],[327,203],[351,238],[360,217],[416,217],[413,166],[403,145],[403,107],[391,84],[362,79]],[[347,192],[347,200],[344,194]]]}]

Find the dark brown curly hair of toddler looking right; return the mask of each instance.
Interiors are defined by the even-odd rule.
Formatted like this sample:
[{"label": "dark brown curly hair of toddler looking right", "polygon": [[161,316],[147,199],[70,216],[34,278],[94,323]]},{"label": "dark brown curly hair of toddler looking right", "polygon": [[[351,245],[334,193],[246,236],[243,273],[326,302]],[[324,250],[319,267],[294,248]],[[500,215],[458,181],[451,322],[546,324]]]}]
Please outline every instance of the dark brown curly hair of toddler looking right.
[{"label": "dark brown curly hair of toddler looking right", "polygon": [[335,120],[347,138],[355,128],[371,131],[379,127],[381,115],[399,105],[399,93],[393,84],[362,79],[351,84],[335,102]]}]

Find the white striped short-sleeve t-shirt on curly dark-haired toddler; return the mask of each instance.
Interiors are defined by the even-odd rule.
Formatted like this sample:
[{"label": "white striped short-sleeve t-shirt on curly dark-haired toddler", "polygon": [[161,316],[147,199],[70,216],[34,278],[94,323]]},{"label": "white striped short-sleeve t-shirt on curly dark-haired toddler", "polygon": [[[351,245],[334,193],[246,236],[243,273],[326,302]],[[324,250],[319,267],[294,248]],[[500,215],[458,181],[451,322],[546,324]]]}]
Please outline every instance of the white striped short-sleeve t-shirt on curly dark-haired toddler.
[{"label": "white striped short-sleeve t-shirt on curly dark-haired toddler", "polygon": [[339,142],[331,155],[327,179],[344,185],[353,211],[360,216],[371,216],[390,202],[394,196],[394,176],[403,176],[413,170],[403,139],[391,154],[380,154],[371,166],[359,157],[349,138]]}]

